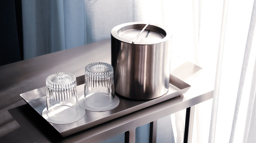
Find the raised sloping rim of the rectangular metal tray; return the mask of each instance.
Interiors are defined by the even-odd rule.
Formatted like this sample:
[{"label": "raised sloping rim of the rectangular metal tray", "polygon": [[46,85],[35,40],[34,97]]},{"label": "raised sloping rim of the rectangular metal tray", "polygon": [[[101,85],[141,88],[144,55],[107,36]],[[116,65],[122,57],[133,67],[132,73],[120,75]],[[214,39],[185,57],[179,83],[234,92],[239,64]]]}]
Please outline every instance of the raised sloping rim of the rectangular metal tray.
[{"label": "raised sloping rim of the rectangular metal tray", "polygon": [[[81,86],[81,85],[84,84],[84,75],[77,76],[76,79],[77,79],[77,86]],[[135,106],[133,106],[133,107],[130,107],[130,108],[128,108],[128,109],[125,109],[125,110],[120,111],[121,113],[120,113],[120,112],[113,113],[113,114],[107,116],[107,117],[108,117],[107,120],[106,120],[106,117],[103,117],[103,118],[101,118],[101,119],[96,119],[96,120],[94,120],[94,121],[92,121],[92,122],[89,122],[90,124],[89,124],[89,123],[82,124],[82,125],[76,126],[75,128],[70,128],[70,129],[68,129],[68,130],[63,130],[63,131],[59,131],[59,130],[56,128],[56,125],[60,125],[60,126],[61,126],[61,125],[64,125],[64,124],[53,124],[53,123],[50,123],[50,122],[48,122],[48,121],[47,121],[47,122],[50,123],[50,124],[54,127],[54,129],[56,129],[57,132],[58,132],[61,136],[65,137],[65,136],[72,135],[72,134],[75,134],[75,133],[77,133],[77,132],[86,130],[86,129],[88,129],[88,128],[94,127],[94,126],[96,126],[96,125],[98,125],[98,124],[101,124],[101,123],[110,121],[110,120],[112,120],[112,119],[116,119],[116,118],[118,118],[118,117],[121,117],[121,116],[127,115],[127,114],[129,114],[129,113],[138,111],[138,110],[140,110],[140,109],[143,109],[143,108],[152,106],[152,105],[154,105],[154,104],[161,103],[161,102],[163,102],[163,101],[166,101],[166,100],[172,99],[172,98],[174,98],[174,97],[180,96],[180,95],[186,93],[186,92],[189,90],[189,88],[191,87],[189,84],[185,83],[184,81],[182,81],[181,79],[175,77],[175,76],[172,75],[172,74],[170,74],[170,82],[169,82],[169,84],[173,85],[174,87],[177,87],[177,88],[180,89],[180,90],[173,92],[173,93],[175,93],[175,94],[173,94],[173,93],[168,94],[168,92],[169,92],[169,89],[168,89],[168,91],[167,91],[164,95],[162,95],[162,96],[160,96],[160,97],[158,97],[158,98],[155,98],[155,99],[150,99],[150,100],[133,100],[133,99],[127,99],[127,98],[125,98],[125,97],[122,97],[122,96],[120,96],[120,95],[117,95],[117,96],[118,96],[119,98],[121,98],[122,100],[127,100],[127,101],[128,101],[128,100],[133,100],[133,101],[145,101],[145,102],[139,104],[139,108],[138,108],[138,107],[135,108]],[[42,90],[43,88],[46,89],[46,87],[40,87],[40,88],[33,89],[33,90],[27,91],[27,92],[32,92],[32,91],[34,91],[34,90]],[[170,88],[170,87],[169,87],[169,88]],[[24,92],[24,93],[20,94],[20,96],[22,97],[22,99],[23,99],[26,103],[28,103],[34,110],[36,110],[36,109],[32,106],[31,102],[34,101],[34,100],[36,100],[36,99],[43,98],[43,97],[45,97],[46,95],[41,96],[41,97],[35,96],[35,97],[38,97],[38,98],[29,98],[29,97],[26,96],[26,93],[27,93],[27,92]],[[170,96],[170,95],[173,95],[173,96]],[[127,101],[126,101],[126,102],[127,102]],[[156,102],[154,102],[154,101],[156,101]],[[143,105],[142,105],[142,104],[143,104]],[[112,110],[113,110],[113,109],[112,109]],[[39,113],[37,110],[36,110],[36,112]],[[115,114],[115,116],[114,116],[114,114]],[[42,116],[42,113],[39,113],[39,115]],[[86,115],[85,115],[85,116],[86,116]],[[42,117],[42,118],[43,118],[43,117]],[[83,117],[83,118],[84,118],[84,117]],[[83,118],[82,118],[82,119],[83,119]],[[43,119],[44,119],[44,118],[43,118]],[[95,122],[96,122],[96,123],[95,123]],[[88,124],[89,124],[89,125],[88,125]],[[87,125],[88,125],[88,126],[87,126]],[[78,127],[79,127],[79,128],[78,128]]]}]

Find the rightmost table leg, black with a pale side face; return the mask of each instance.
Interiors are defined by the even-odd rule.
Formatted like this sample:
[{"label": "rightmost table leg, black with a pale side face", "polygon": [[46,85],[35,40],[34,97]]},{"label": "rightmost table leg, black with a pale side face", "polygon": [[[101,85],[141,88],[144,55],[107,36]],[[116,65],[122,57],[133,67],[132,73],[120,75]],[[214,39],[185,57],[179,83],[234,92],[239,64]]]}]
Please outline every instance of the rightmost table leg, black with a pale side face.
[{"label": "rightmost table leg, black with a pale side face", "polygon": [[184,143],[192,142],[194,112],[195,112],[195,106],[191,106],[186,109],[184,141],[183,141]]}]

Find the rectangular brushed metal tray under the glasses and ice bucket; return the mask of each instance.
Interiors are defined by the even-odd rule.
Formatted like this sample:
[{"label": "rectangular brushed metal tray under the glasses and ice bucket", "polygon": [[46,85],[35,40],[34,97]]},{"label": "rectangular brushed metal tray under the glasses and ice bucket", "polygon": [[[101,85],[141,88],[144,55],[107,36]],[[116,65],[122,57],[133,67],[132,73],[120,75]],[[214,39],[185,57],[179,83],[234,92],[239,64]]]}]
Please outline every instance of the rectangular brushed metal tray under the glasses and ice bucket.
[{"label": "rectangular brushed metal tray under the glasses and ice bucket", "polygon": [[[80,98],[84,95],[84,75],[76,77],[76,81],[77,94],[78,98]],[[107,122],[109,120],[116,119],[123,115],[138,111],[148,106],[182,95],[186,93],[190,87],[191,86],[187,83],[170,74],[170,84],[168,92],[159,98],[151,100],[132,100],[117,95],[119,97],[120,102],[119,105],[114,109],[103,112],[93,112],[85,110],[84,117],[74,123],[49,123],[60,133],[61,136],[68,136],[80,132],[82,130],[88,129],[90,127],[96,126],[98,124]],[[42,116],[42,112],[46,107],[46,87],[41,87],[38,89],[22,93],[20,94],[20,96]]]}]

